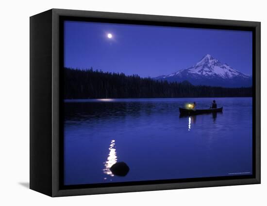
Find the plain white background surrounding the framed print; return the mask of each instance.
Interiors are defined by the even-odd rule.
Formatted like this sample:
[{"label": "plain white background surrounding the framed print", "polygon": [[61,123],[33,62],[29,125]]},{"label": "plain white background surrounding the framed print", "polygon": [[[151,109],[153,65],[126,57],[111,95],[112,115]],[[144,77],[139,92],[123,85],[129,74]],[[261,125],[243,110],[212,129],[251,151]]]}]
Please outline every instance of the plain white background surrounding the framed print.
[{"label": "plain white background surrounding the framed print", "polygon": [[[0,2],[0,205],[267,205],[267,6],[264,0]],[[51,8],[262,22],[262,184],[51,198],[29,186],[29,16]]]}]

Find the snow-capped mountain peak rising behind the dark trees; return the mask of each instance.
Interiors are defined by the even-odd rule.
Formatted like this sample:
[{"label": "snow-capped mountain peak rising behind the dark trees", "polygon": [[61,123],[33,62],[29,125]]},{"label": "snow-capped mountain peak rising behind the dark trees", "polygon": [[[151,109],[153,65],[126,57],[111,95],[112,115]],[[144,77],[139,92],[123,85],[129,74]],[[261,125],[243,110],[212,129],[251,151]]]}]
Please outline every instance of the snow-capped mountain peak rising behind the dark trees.
[{"label": "snow-capped mountain peak rising behind the dark trees", "polygon": [[208,85],[219,87],[251,87],[252,76],[233,69],[226,63],[207,54],[194,66],[178,72],[155,77],[157,80],[169,82],[189,81],[193,85]]}]

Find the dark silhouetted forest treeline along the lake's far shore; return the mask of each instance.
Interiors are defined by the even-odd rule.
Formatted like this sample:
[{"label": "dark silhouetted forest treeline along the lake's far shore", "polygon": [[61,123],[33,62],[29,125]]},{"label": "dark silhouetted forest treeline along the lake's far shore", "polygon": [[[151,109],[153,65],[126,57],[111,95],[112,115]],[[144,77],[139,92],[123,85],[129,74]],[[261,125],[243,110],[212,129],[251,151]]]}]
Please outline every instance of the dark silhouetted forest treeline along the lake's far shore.
[{"label": "dark silhouetted forest treeline along the lake's far shore", "polygon": [[138,75],[65,68],[65,99],[251,97],[252,88],[193,86]]}]

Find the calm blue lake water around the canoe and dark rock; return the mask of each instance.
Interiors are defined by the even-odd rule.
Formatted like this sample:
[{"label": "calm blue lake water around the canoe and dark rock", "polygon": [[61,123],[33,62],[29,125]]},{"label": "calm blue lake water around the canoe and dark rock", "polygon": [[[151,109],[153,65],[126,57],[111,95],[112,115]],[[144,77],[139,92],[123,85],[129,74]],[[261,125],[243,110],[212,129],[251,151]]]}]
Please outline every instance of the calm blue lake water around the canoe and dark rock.
[{"label": "calm blue lake water around the canoe and dark rock", "polygon": [[[65,101],[65,184],[252,174],[252,98],[217,98],[223,113],[180,117],[211,98]],[[130,168],[125,177],[109,170]]]}]

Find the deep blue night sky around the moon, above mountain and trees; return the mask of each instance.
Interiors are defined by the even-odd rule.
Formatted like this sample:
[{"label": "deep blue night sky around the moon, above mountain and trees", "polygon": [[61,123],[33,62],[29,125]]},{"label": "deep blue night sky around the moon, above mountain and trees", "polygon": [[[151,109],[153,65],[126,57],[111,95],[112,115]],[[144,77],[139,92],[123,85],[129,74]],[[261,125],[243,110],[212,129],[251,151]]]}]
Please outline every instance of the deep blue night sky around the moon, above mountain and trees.
[{"label": "deep blue night sky around the moon, above mountain and trees", "polygon": [[[65,21],[64,66],[156,77],[210,54],[252,74],[252,32]],[[108,38],[108,34],[112,38]]]}]

